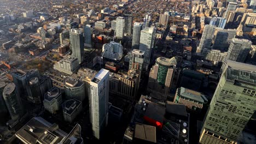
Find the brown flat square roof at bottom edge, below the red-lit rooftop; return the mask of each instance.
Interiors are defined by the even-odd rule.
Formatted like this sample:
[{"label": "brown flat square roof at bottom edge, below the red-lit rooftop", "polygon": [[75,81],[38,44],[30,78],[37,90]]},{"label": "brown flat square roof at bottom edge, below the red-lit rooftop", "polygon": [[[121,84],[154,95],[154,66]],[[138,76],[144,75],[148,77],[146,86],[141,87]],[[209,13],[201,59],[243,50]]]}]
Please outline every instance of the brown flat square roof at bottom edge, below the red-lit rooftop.
[{"label": "brown flat square roof at bottom edge, below the red-lit rooftop", "polygon": [[156,143],[156,128],[151,125],[136,123],[134,137]]}]

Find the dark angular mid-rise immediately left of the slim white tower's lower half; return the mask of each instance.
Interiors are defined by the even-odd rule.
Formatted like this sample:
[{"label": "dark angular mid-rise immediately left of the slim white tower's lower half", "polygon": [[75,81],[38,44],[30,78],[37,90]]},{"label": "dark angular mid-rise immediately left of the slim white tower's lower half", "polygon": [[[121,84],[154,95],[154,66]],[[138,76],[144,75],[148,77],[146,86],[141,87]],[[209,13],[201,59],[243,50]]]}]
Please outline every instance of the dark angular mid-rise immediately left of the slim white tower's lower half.
[{"label": "dark angular mid-rise immediately left of the slim white tower's lower half", "polygon": [[73,122],[75,117],[82,112],[82,102],[77,99],[66,100],[62,104],[63,117],[66,122]]}]

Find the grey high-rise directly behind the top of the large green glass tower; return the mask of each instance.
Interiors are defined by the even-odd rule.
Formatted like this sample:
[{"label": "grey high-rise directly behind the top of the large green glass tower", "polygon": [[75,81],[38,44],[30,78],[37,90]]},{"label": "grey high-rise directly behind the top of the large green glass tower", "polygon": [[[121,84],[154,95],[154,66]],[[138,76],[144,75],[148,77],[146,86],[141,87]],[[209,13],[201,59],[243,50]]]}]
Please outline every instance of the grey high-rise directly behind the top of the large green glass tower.
[{"label": "grey high-rise directly behind the top of the large green glass tower", "polygon": [[223,73],[228,60],[241,63],[245,62],[246,57],[251,50],[251,44],[252,42],[247,39],[233,38],[229,45],[228,55],[225,57],[222,68],[220,69],[220,73]]}]

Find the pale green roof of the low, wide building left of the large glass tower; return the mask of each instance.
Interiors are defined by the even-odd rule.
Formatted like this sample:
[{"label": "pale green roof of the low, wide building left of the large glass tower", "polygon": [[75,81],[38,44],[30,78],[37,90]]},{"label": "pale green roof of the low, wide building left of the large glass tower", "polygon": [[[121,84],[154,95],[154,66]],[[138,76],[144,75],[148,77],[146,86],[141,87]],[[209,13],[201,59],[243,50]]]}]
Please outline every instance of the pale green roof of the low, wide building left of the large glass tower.
[{"label": "pale green roof of the low, wide building left of the large glass tower", "polygon": [[193,91],[188,88],[181,87],[181,88],[178,88],[177,91],[178,91],[178,94],[181,95],[182,97],[195,100],[200,103],[207,103],[208,101],[205,95],[203,95],[202,93]]}]

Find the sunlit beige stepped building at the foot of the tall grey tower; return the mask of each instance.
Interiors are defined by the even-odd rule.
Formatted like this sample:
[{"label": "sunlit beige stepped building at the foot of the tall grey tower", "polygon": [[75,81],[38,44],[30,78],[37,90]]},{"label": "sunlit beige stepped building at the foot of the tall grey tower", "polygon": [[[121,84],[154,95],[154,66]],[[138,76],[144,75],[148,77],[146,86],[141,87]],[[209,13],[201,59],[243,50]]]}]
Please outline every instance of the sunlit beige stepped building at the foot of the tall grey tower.
[{"label": "sunlit beige stepped building at the foot of the tall grey tower", "polygon": [[75,57],[67,56],[54,64],[54,69],[62,73],[72,75],[79,69],[78,59]]}]

